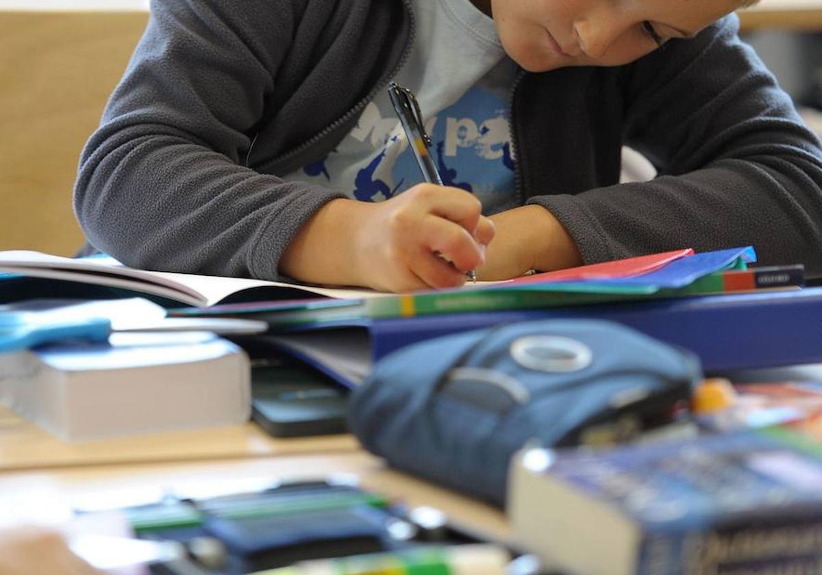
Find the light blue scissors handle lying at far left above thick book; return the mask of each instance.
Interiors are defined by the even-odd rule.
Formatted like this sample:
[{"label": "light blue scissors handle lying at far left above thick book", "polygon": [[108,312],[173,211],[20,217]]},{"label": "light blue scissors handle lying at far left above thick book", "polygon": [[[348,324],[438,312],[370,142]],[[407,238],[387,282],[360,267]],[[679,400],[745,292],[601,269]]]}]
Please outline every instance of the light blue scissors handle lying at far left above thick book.
[{"label": "light blue scissors handle lying at far left above thick book", "polygon": [[30,321],[26,317],[29,314],[25,313],[2,315],[5,317],[0,321],[0,352],[30,349],[65,339],[102,342],[111,334],[111,322],[105,318],[46,323]]}]

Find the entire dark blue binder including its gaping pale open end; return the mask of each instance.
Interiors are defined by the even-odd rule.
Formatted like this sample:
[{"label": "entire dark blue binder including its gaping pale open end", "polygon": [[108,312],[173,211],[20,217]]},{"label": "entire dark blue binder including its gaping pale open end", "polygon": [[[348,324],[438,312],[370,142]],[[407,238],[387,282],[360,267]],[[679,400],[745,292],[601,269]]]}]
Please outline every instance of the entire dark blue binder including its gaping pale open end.
[{"label": "entire dark blue binder including its gaping pale open end", "polygon": [[822,362],[822,288],[564,309],[344,320],[261,339],[307,361],[339,384],[356,387],[374,361],[412,343],[496,324],[550,318],[598,318],[628,325],[690,349],[710,373]]}]

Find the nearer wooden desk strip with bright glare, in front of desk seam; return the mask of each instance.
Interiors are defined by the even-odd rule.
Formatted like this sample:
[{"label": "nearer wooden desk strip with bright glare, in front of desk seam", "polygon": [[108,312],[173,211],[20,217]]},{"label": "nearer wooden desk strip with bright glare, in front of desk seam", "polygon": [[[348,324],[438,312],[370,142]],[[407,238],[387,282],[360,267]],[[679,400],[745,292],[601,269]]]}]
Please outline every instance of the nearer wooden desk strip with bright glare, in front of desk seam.
[{"label": "nearer wooden desk strip with bright glare, in front of desk seam", "polygon": [[361,484],[410,506],[430,505],[455,524],[510,540],[500,510],[453,491],[395,472],[367,453],[289,455],[233,462],[190,462],[0,472],[0,508],[28,520],[63,519],[72,508],[113,508],[155,500],[173,490],[213,494],[215,487],[242,490],[275,479],[318,478],[335,473],[358,476]]}]

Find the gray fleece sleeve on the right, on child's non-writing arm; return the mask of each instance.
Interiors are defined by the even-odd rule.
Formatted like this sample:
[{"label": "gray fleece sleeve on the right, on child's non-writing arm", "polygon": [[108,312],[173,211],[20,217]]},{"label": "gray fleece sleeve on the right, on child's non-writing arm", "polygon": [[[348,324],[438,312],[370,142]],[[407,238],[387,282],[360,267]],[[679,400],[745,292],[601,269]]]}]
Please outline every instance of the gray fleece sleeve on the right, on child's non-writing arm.
[{"label": "gray fleece sleeve on the right, on child's non-writing arm", "polygon": [[822,150],[728,16],[625,69],[627,145],[651,182],[538,196],[588,262],[753,245],[822,275]]}]

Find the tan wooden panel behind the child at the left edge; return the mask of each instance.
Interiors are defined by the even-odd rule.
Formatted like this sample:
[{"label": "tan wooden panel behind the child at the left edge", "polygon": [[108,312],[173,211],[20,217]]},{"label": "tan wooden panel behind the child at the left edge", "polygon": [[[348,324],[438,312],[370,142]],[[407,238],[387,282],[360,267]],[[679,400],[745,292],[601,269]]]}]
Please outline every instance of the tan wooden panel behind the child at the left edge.
[{"label": "tan wooden panel behind the child at the left edge", "polygon": [[77,161],[147,19],[0,7],[0,250],[81,246]]}]

